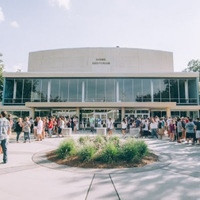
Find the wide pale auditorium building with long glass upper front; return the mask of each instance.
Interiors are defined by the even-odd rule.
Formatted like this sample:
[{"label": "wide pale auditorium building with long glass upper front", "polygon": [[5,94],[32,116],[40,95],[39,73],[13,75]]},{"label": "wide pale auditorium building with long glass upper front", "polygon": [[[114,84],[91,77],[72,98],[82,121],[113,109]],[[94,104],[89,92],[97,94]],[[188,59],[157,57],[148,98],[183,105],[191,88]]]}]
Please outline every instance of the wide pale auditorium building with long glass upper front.
[{"label": "wide pale auditorium building with long glass upper front", "polygon": [[173,54],[133,48],[31,52],[5,72],[0,109],[14,116],[199,116],[199,73],[174,72]]}]

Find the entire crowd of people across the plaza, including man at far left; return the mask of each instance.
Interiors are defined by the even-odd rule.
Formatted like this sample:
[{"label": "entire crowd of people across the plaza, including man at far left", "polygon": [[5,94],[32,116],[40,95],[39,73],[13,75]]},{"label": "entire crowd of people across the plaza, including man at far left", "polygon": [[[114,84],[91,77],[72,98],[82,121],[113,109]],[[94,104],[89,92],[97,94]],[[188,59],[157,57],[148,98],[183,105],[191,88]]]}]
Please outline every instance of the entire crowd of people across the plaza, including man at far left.
[{"label": "entire crowd of people across the plaza, including man at far left", "polygon": [[[107,127],[108,135],[112,135],[112,130],[116,128],[114,120],[109,118],[106,122],[94,118],[88,120],[90,123],[90,130],[93,133],[95,123],[97,127]],[[115,124],[115,126],[114,126]],[[23,142],[31,142],[30,134],[36,141],[42,141],[45,137],[63,137],[63,129],[65,127],[72,128],[76,133],[79,129],[78,117],[36,117],[32,119],[25,117],[18,118],[13,121],[12,116],[5,111],[0,115],[0,153],[3,152],[3,162],[7,163],[7,144],[11,132],[16,132],[16,142],[19,143],[20,135],[23,135]],[[84,126],[85,127],[85,126]],[[131,128],[138,130],[140,137],[151,137],[162,139],[164,135],[169,137],[170,142],[186,143],[189,141],[193,145],[200,144],[200,119],[193,120],[189,117],[150,117],[150,118],[130,118],[124,117],[121,122],[122,135],[125,137]]]}]

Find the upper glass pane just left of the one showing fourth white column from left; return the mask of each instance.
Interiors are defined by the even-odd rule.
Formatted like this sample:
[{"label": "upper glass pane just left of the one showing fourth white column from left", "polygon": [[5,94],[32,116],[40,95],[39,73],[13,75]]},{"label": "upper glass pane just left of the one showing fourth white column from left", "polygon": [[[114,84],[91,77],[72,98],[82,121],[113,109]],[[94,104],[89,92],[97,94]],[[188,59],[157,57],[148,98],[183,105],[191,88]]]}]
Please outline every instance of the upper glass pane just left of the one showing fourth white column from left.
[{"label": "upper glass pane just left of the one showing fourth white column from left", "polygon": [[115,101],[115,80],[106,79],[106,102]]}]

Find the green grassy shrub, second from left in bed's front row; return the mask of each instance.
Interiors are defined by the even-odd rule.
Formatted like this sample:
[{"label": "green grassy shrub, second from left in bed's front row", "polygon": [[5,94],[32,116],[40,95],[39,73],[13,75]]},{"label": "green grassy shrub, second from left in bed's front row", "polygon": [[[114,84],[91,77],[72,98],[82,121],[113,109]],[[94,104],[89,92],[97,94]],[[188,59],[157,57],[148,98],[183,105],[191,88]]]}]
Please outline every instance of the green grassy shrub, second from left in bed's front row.
[{"label": "green grassy shrub, second from left in bed's front row", "polygon": [[92,143],[85,144],[79,151],[78,155],[82,161],[90,161],[96,153],[96,148]]}]

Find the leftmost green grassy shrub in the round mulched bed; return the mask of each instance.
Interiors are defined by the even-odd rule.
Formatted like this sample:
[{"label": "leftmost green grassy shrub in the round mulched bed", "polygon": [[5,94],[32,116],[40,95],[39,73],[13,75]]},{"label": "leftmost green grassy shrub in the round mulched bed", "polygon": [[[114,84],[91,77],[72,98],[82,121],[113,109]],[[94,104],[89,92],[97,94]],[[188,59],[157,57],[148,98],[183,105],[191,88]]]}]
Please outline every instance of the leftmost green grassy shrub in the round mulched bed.
[{"label": "leftmost green grassy shrub in the round mulched bed", "polygon": [[56,154],[60,159],[64,159],[67,156],[74,155],[77,152],[76,144],[73,139],[67,139],[61,142],[58,149],[56,150]]}]

